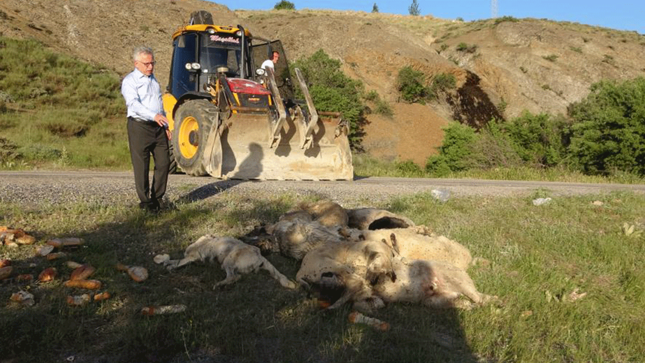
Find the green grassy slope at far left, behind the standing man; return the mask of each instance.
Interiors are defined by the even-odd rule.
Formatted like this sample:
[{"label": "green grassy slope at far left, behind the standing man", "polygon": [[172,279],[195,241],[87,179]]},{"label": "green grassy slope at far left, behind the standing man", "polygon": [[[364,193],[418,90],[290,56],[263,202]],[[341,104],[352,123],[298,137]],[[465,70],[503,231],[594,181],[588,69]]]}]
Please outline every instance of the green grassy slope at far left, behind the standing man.
[{"label": "green grassy slope at far left, behind the standing man", "polygon": [[113,72],[32,40],[0,37],[0,45],[1,169],[128,169]]}]

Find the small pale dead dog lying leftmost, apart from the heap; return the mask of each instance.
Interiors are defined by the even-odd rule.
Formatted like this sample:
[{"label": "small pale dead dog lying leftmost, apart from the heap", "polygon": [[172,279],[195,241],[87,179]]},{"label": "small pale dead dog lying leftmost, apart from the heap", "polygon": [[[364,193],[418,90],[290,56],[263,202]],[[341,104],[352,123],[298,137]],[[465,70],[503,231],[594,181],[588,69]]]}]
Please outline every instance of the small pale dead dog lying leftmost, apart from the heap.
[{"label": "small pale dead dog lying leftmost, apart from the heap", "polygon": [[241,274],[255,273],[260,269],[268,271],[275,280],[288,289],[295,289],[297,286],[295,282],[277,271],[271,262],[262,256],[259,248],[245,244],[233,237],[217,237],[211,234],[201,236],[186,247],[184,258],[168,260],[164,262],[164,265],[168,269],[175,269],[190,264],[190,262],[205,261],[206,259],[212,261],[215,258],[226,272],[226,278],[217,282],[213,289],[221,285],[232,284],[241,278]]}]

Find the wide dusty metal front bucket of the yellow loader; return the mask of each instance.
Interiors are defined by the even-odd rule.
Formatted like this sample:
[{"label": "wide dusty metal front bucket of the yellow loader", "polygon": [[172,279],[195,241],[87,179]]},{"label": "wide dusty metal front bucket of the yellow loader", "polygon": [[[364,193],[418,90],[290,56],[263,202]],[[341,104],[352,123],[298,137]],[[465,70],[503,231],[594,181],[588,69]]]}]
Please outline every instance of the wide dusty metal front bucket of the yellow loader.
[{"label": "wide dusty metal front bucket of the yellow loader", "polygon": [[[348,127],[341,118],[319,118],[313,127],[312,142],[302,147],[306,132],[303,116],[288,116],[277,142],[272,122],[266,114],[233,113],[218,130],[221,145],[221,171],[213,175],[226,179],[260,180],[352,180],[352,153]],[[217,151],[217,150],[213,150]],[[213,163],[219,162],[213,158]]]}]

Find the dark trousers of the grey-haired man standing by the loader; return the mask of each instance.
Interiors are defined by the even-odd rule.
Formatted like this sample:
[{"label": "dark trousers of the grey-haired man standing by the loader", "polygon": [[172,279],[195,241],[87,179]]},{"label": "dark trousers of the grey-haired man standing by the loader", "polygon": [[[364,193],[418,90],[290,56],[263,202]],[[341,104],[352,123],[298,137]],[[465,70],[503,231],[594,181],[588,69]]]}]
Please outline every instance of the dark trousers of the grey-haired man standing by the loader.
[{"label": "dark trousers of the grey-haired man standing by the loader", "polygon": [[[159,202],[166,193],[170,167],[166,130],[154,121],[137,121],[137,119],[128,118],[128,143],[132,169],[134,169],[134,183],[141,200],[139,207],[158,210]],[[150,154],[155,164],[152,189],[148,182]]]}]

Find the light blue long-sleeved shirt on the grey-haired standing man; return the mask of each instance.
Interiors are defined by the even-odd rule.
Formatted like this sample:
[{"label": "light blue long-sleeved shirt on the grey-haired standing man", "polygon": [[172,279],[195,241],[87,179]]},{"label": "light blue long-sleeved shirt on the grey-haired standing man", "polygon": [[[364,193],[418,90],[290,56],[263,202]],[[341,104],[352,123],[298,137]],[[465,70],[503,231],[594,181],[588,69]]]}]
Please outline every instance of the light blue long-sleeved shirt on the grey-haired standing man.
[{"label": "light blue long-sleeved shirt on the grey-haired standing man", "polygon": [[161,87],[154,74],[146,76],[135,68],[123,78],[121,94],[128,107],[128,117],[154,121],[157,114],[165,115]]}]

